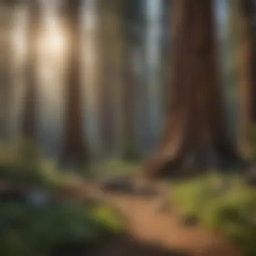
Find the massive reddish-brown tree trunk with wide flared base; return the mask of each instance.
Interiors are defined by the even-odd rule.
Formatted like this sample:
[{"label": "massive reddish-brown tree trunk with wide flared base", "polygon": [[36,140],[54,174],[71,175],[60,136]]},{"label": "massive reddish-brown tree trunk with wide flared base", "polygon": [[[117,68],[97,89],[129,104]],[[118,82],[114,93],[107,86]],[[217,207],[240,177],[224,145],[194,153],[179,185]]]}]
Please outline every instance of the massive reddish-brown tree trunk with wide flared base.
[{"label": "massive reddish-brown tree trunk with wide flared base", "polygon": [[[172,90],[148,177],[184,176],[238,160],[228,138],[216,64],[213,1],[174,1]],[[178,171],[179,170],[179,171]]]}]

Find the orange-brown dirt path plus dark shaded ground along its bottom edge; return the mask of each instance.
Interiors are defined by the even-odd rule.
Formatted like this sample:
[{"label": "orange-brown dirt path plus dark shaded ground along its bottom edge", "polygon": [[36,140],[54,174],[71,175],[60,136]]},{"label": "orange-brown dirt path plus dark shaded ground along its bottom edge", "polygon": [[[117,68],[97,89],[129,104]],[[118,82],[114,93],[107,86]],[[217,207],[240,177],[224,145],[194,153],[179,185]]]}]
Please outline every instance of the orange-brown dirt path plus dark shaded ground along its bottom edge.
[{"label": "orange-brown dirt path plus dark shaded ground along its bottom edge", "polygon": [[[138,197],[102,193],[95,185],[86,185],[86,193],[104,197],[117,207],[127,219],[130,239],[107,243],[92,255],[96,256],[241,256],[240,248],[230,244],[220,234],[195,225],[181,224],[174,209],[158,210],[158,197]],[[161,197],[161,195],[160,195]]]}]

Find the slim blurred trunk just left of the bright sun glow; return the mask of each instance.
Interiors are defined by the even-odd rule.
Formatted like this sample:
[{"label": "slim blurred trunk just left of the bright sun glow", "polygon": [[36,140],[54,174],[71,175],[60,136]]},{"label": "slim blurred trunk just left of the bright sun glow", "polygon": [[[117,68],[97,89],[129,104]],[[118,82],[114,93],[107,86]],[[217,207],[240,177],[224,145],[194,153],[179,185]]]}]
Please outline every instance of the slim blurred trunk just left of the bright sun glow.
[{"label": "slim blurred trunk just left of the bright sun glow", "polygon": [[37,42],[40,24],[38,1],[32,1],[28,21],[28,56],[26,63],[26,87],[22,133],[28,141],[36,140],[36,86],[37,86]]}]

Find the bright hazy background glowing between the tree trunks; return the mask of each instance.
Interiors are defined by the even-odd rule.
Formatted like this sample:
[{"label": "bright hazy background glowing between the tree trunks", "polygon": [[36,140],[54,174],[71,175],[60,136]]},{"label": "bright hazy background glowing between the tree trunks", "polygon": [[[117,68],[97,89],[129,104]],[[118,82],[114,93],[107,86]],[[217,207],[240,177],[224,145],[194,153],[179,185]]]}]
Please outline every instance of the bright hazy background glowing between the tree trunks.
[{"label": "bright hazy background glowing between the tree trunks", "polygon": [[[24,88],[28,79],[25,72],[28,28],[30,20],[34,19],[36,140],[44,154],[56,157],[60,154],[65,133],[69,10],[64,1],[57,0],[39,1],[32,8],[30,1],[2,2],[1,96],[4,100],[1,104],[4,105],[1,126],[7,129],[2,137],[13,142],[22,136]],[[121,2],[85,0],[79,7],[83,40],[80,56],[83,133],[95,158],[121,156],[127,139],[122,132],[124,104],[128,104],[132,112],[129,122],[133,138],[129,140],[135,141],[142,158],[154,152],[164,125],[172,75],[172,1],[131,0],[125,2],[127,7]],[[238,108],[234,2],[214,1],[214,11],[226,117],[230,133],[235,136]],[[30,17],[32,11],[38,13],[36,18]],[[126,101],[124,92],[128,95]],[[5,111],[9,111],[7,120]]]}]

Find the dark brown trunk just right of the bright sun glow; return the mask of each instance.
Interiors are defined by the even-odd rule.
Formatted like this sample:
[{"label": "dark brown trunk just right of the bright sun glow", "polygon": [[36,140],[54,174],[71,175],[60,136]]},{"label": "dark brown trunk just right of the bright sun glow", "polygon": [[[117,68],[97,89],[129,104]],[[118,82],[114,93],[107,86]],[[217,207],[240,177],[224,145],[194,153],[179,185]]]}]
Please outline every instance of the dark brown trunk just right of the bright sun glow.
[{"label": "dark brown trunk just right of the bright sun glow", "polygon": [[67,65],[65,134],[61,164],[80,168],[88,161],[82,125],[82,100],[80,95],[80,55],[82,0],[67,0],[67,26],[69,27],[69,56]]}]

